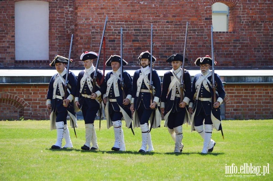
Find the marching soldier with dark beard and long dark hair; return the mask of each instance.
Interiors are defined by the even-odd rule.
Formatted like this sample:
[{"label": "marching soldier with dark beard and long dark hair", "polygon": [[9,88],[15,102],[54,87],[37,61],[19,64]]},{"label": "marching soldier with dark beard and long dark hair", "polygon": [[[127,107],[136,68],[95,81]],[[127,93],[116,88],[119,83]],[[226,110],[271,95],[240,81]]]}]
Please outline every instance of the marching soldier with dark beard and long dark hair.
[{"label": "marching soldier with dark beard and long dark hair", "polygon": [[[161,83],[157,71],[152,69],[153,95],[150,94],[150,60],[151,54],[148,51],[142,52],[138,57],[140,69],[135,71],[133,76],[133,89],[131,99],[131,111],[133,114],[134,127],[140,127],[142,136],[142,145],[139,152],[153,151],[151,134],[149,132],[149,118],[153,128],[160,127],[161,114],[158,108],[160,105]],[[156,58],[152,56],[152,62]],[[154,123],[153,123],[154,121]],[[153,123],[153,124],[152,124]],[[148,145],[148,149],[147,149]]]}]

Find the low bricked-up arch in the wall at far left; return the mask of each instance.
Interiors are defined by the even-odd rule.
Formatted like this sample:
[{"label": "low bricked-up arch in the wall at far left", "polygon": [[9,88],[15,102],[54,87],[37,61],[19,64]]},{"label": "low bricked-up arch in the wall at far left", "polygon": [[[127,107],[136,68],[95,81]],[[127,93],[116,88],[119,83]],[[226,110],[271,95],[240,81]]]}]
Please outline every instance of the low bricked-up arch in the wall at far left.
[{"label": "low bricked-up arch in the wall at far left", "polygon": [[0,93],[0,120],[14,119],[19,120],[20,117],[24,116],[25,108],[29,107],[23,99],[8,93]]}]

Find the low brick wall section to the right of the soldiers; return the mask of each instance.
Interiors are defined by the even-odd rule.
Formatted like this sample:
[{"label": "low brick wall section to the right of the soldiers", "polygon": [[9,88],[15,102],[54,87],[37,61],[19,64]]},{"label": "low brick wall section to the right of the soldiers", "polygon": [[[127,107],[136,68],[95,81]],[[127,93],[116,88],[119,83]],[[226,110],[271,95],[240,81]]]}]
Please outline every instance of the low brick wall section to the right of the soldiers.
[{"label": "low brick wall section to the right of the soldiers", "polygon": [[224,88],[230,99],[225,105],[226,119],[273,118],[272,85],[229,85]]}]

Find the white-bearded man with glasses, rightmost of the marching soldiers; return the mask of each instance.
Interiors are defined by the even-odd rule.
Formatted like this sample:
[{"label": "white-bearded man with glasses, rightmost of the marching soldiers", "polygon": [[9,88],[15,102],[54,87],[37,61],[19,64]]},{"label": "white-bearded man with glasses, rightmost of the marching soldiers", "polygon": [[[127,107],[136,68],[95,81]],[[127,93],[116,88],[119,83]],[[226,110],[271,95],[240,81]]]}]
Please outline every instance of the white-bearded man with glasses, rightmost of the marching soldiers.
[{"label": "white-bearded man with glasses, rightmost of the marching soldiers", "polygon": [[[217,62],[214,62],[216,65]],[[206,55],[197,58],[195,63],[200,66],[201,73],[196,74],[192,83],[192,98],[189,104],[189,113],[192,115],[191,130],[196,130],[203,138],[203,149],[201,153],[212,152],[215,142],[211,139],[213,126],[219,130],[221,127],[220,104],[225,97],[225,91],[218,74],[214,74],[216,81],[216,101],[213,103],[212,90],[212,59]],[[219,114],[216,114],[219,113]],[[204,121],[204,125],[203,125]]]}]

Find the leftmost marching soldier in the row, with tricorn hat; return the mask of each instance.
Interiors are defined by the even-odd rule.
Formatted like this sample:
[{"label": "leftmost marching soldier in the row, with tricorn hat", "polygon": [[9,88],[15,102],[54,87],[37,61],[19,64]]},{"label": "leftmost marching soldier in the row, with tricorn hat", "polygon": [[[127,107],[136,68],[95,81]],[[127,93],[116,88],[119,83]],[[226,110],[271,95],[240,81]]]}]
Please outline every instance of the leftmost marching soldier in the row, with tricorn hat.
[{"label": "leftmost marching soldier in the row, with tricorn hat", "polygon": [[[72,59],[70,59],[72,61]],[[78,127],[76,120],[76,113],[74,112],[74,97],[76,95],[77,77],[73,72],[68,74],[68,88],[66,95],[69,95],[66,99],[65,96],[65,81],[66,81],[66,64],[68,64],[68,58],[57,55],[54,60],[49,64],[56,68],[57,74],[53,75],[49,82],[46,107],[51,110],[50,114],[50,129],[57,129],[57,140],[52,149],[60,149],[62,147],[62,139],[64,138],[66,144],[63,148],[72,148],[73,145],[70,140],[69,130],[67,128],[66,117],[70,116],[71,127]],[[73,121],[73,123],[72,123]]]}]

